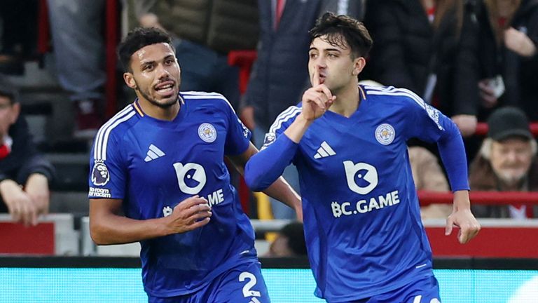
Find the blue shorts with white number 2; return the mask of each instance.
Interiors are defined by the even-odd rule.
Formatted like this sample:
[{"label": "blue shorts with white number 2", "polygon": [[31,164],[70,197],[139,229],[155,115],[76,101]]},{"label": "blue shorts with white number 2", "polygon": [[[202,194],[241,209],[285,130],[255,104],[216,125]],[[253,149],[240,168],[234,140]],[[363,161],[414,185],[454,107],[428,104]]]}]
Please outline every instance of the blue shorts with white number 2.
[{"label": "blue shorts with white number 2", "polygon": [[177,297],[149,297],[149,303],[270,303],[261,264],[252,262],[228,269],[205,288]]}]

